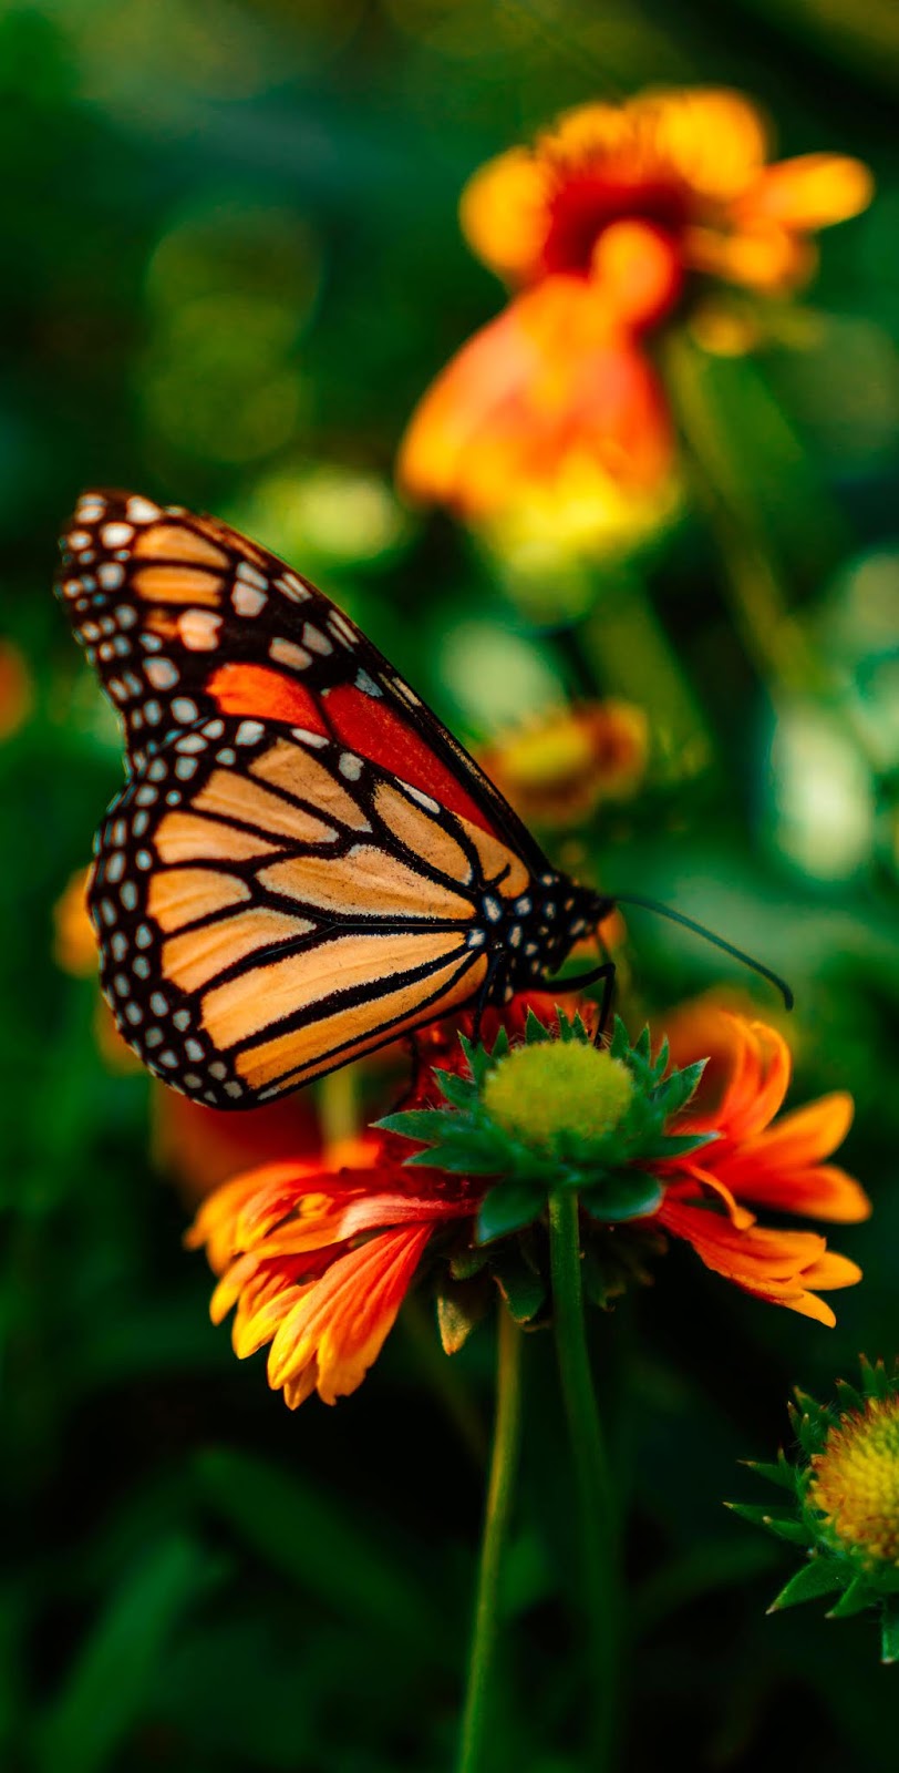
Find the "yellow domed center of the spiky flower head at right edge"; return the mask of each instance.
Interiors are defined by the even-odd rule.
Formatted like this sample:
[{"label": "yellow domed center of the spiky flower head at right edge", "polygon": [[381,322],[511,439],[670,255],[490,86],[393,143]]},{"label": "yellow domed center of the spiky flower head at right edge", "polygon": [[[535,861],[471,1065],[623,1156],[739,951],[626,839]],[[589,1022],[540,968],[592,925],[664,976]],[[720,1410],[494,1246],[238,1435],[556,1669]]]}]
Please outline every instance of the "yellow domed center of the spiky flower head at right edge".
[{"label": "yellow domed center of the spiky flower head at right edge", "polygon": [[899,1564],[899,1397],[872,1397],[830,1429],[809,1502],[846,1550]]}]

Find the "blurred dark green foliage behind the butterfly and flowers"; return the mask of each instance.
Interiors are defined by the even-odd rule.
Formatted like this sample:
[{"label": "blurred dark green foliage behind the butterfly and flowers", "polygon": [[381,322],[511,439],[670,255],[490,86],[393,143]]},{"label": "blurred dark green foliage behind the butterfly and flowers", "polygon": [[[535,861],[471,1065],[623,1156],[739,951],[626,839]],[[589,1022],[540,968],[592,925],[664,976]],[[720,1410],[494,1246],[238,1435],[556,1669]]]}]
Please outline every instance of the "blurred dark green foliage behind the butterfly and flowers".
[{"label": "blurred dark green foliage behind the butterfly and flowers", "polygon": [[[550,580],[534,621],[497,562],[389,486],[414,399],[501,301],[458,236],[465,176],[565,105],[697,80],[756,94],[784,152],[862,154],[880,183],[823,239],[809,342],[713,369],[729,472],[837,702],[759,667],[697,518],[586,590]],[[634,1495],[626,1764],[894,1766],[874,1628],[766,1619],[789,1555],[720,1504],[747,1495],[734,1461],[788,1434],[791,1383],[828,1395],[860,1349],[899,1344],[897,85],[888,0],[0,7],[2,633],[35,679],[0,746],[9,1773],[446,1768],[490,1411],[490,1332],[446,1363],[426,1307],[350,1402],[297,1417],[207,1323],[147,1083],[104,1069],[94,988],[51,959],[51,906],[120,773],[50,596],[85,484],[214,509],[287,553],[467,739],[577,688],[572,606],[605,686],[648,704],[648,787],[598,821],[588,865],[789,975],[798,1094],[853,1089],[846,1161],[876,1218],[835,1239],[865,1268],[835,1332],[690,1252],[595,1324]],[[733,977],[637,917],[632,965],[657,1009]],[[496,1769],[570,1773],[584,1670],[545,1337],[527,1367]]]}]

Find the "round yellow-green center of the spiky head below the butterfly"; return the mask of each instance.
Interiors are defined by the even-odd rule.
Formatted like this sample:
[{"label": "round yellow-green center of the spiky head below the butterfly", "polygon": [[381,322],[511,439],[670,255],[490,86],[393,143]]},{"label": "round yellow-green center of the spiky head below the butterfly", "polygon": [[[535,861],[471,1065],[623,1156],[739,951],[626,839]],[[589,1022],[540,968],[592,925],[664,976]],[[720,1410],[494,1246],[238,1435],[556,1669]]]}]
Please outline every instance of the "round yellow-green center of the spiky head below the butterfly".
[{"label": "round yellow-green center of the spiky head below the butterfly", "polygon": [[572,1133],[600,1142],[632,1099],[628,1067],[580,1041],[519,1046],[483,1085],[483,1105],[497,1126],[542,1152]]}]

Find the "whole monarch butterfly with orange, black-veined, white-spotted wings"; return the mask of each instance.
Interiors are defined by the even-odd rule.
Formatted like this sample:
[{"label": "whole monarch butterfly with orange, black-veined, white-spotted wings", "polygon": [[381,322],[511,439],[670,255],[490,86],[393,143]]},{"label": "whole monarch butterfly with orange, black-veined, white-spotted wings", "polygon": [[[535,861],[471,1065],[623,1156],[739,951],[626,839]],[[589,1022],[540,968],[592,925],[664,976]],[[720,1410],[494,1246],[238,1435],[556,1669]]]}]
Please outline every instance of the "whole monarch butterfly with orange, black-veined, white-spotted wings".
[{"label": "whole monarch butterfly with orange, black-veined, white-spotted wings", "polygon": [[334,605],[225,525],[85,495],[58,592],[126,730],[88,885],[103,988],[166,1083],[253,1106],[538,986],[611,910]]}]

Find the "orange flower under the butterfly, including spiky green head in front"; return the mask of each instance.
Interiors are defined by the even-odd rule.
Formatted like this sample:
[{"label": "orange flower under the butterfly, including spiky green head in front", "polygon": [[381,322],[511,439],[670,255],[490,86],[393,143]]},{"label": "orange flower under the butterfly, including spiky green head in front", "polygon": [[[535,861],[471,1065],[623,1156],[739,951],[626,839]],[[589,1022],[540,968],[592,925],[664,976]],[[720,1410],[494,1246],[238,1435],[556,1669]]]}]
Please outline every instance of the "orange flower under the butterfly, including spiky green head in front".
[{"label": "orange flower under the butterfly, including spiky green head in front", "polygon": [[[648,1030],[632,1044],[616,1023],[611,1046],[596,1048],[580,1016],[557,1011],[549,1027],[527,1004],[492,1023],[490,1050],[465,1037],[453,1046],[442,1028],[425,1037],[411,1106],[352,1147],[253,1168],[202,1204],[188,1243],[205,1245],[219,1275],[212,1317],[237,1307],[241,1358],[271,1344],[269,1383],[290,1408],[313,1390],[326,1402],[356,1390],[425,1273],[448,1353],[494,1287],[517,1321],[540,1321],[547,1206],[566,1190],[580,1206],[584,1287],[600,1305],[646,1278],[667,1230],[747,1291],[834,1321],[809,1289],[849,1285],[855,1264],[809,1232],[757,1229],[740,1202],[740,1191],[752,1199],[740,1172],[752,1140],[766,1151],[763,1197],[780,1209],[811,1199],[826,1142],[805,1128],[791,1144],[789,1117],[766,1131],[780,1103],[761,1057],[770,1030],[745,1028],[749,1057],[710,1126],[688,1110],[703,1058],[671,1067],[665,1043],[651,1055]],[[819,1195],[830,1216],[867,1213],[849,1177]]]}]

